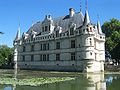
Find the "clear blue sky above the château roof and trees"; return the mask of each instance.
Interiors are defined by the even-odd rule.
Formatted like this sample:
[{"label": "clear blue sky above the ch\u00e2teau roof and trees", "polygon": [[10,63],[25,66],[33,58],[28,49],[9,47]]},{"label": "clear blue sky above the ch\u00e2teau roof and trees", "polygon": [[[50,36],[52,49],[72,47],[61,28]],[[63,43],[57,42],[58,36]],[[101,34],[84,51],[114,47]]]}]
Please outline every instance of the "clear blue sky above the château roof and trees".
[{"label": "clear blue sky above the ch\u00e2teau roof and trees", "polygon": [[[69,8],[75,12],[85,13],[85,0],[0,0],[0,45],[13,47],[13,40],[20,26],[21,35],[33,23],[42,21],[45,15],[53,18],[69,14]],[[99,15],[101,25],[117,18],[120,20],[120,0],[88,0],[88,12],[92,23],[96,23]]]}]

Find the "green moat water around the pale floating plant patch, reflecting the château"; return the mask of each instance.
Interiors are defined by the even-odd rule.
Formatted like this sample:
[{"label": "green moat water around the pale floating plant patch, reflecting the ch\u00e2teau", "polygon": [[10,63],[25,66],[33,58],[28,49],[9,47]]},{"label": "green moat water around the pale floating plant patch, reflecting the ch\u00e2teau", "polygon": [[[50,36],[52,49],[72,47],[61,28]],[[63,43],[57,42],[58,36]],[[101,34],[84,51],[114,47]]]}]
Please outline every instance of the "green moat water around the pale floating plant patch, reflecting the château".
[{"label": "green moat water around the pale floating plant patch, reflecting the ch\u00e2teau", "polygon": [[[0,70],[1,77],[14,75],[13,70]],[[120,90],[120,74],[80,74],[64,72],[18,71],[17,78],[28,77],[74,77],[74,80],[38,86],[1,84],[0,90]]]}]

